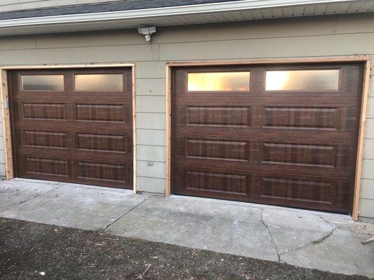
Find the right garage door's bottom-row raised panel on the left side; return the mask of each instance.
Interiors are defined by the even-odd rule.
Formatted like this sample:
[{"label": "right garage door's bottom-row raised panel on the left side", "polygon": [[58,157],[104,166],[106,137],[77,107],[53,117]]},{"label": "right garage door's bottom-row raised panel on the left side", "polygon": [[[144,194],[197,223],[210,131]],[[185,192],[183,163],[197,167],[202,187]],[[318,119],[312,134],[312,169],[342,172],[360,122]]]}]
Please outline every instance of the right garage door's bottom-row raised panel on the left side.
[{"label": "right garage door's bottom-row raised panel on the left side", "polygon": [[185,171],[186,190],[246,195],[246,175]]}]

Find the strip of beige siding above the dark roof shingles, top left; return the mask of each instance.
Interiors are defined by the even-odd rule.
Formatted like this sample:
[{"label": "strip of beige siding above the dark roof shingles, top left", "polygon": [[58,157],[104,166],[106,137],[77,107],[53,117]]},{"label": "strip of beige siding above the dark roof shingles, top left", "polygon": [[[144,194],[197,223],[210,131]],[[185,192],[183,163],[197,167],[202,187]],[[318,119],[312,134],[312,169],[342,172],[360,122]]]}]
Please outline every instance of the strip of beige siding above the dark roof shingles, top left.
[{"label": "strip of beige siding above the dark roof shingles, top left", "polygon": [[76,5],[85,3],[100,3],[108,1],[116,0],[1,0],[0,12],[6,12],[9,10],[26,10],[31,8],[47,8],[55,6]]}]

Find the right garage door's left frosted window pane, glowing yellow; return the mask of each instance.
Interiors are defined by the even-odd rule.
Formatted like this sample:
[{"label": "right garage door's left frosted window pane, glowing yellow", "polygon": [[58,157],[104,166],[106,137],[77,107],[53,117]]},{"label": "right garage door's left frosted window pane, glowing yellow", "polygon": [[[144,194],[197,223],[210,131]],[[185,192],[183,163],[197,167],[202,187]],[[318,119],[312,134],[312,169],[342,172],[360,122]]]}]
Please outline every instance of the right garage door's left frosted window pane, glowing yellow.
[{"label": "right garage door's left frosted window pane, glowing yellow", "polygon": [[188,91],[249,91],[250,72],[188,73]]}]

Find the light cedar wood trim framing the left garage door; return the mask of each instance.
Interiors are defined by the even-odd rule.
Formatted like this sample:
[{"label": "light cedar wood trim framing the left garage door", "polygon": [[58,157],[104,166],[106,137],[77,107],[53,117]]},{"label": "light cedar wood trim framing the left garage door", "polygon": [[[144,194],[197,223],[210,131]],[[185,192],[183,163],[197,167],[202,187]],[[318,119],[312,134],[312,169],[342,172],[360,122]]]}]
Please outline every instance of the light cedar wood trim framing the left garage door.
[{"label": "light cedar wood trim framing the left garage door", "polygon": [[[9,113],[9,89],[8,89],[8,75],[7,70],[34,70],[34,69],[71,69],[71,68],[114,68],[123,67],[131,68],[132,75],[132,97],[133,97],[133,193],[137,193],[136,185],[136,99],[135,99],[135,64],[134,63],[116,63],[116,64],[53,64],[53,65],[20,65],[20,66],[0,66],[0,89],[1,89],[1,108],[3,115],[3,130],[4,130],[4,151],[6,159],[6,179],[14,178],[13,171],[13,154],[12,154],[12,139],[11,139],[11,118]],[[6,106],[4,106],[6,105]]]}]

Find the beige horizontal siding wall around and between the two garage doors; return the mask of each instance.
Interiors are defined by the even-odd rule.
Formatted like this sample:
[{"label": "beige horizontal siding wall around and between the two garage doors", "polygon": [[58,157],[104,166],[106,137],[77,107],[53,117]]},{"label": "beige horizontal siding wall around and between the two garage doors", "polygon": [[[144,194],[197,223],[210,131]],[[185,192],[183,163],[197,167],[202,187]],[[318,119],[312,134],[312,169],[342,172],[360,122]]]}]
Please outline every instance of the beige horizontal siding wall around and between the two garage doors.
[{"label": "beige horizontal siding wall around and between the two garage doors", "polygon": [[[0,64],[135,62],[138,190],[163,193],[166,62],[338,55],[374,58],[373,45],[373,14],[333,15],[160,27],[152,36],[152,43],[146,42],[135,29],[6,37],[0,40]],[[374,218],[374,85],[371,80],[369,95],[361,219]],[[148,162],[153,165],[149,166]]]}]

